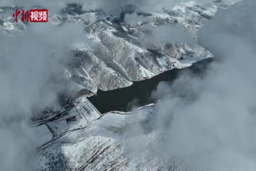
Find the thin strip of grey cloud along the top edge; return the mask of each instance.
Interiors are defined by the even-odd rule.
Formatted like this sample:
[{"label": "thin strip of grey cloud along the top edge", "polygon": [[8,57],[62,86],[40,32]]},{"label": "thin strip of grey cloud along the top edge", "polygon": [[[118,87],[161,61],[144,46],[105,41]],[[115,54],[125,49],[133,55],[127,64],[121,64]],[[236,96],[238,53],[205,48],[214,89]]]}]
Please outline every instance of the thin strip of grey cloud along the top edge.
[{"label": "thin strip of grey cloud along the top edge", "polygon": [[[139,7],[141,10],[151,12],[155,10],[171,9],[179,3],[190,2],[191,0],[2,0],[0,6],[16,5],[25,8],[31,8],[33,5],[40,5],[50,10],[50,12],[57,12],[61,8],[65,8],[68,3],[79,3],[82,4],[83,10],[103,10],[107,13],[117,13],[120,8],[124,5],[134,5]],[[240,0],[228,0],[229,2],[238,2]],[[211,0],[194,0],[196,3],[209,3]]]}]

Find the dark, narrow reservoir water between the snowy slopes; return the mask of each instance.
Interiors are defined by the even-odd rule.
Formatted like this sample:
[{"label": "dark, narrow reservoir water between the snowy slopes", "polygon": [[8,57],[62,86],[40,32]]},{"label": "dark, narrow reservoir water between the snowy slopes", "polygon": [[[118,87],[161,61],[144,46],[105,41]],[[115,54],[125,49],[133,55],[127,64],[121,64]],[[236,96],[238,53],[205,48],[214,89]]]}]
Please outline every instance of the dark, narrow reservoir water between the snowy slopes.
[{"label": "dark, narrow reservoir water between the snowy slopes", "polygon": [[143,81],[136,81],[132,86],[102,91],[98,90],[96,96],[88,99],[95,105],[100,113],[110,111],[130,111],[133,105],[142,106],[155,102],[151,99],[152,91],[156,90],[158,83],[161,81],[172,82],[185,70],[189,70],[195,74],[203,74],[212,58],[204,59],[194,63],[193,66],[184,69],[173,69],[165,71],[153,78]]}]

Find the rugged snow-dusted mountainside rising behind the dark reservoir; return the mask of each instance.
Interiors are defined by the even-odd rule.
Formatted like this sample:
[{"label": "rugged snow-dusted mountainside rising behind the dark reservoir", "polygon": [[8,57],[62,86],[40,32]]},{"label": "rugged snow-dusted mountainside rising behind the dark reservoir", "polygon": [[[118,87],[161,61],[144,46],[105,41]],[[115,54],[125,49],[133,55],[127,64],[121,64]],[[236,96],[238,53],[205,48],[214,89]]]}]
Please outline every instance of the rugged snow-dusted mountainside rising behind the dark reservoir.
[{"label": "rugged snow-dusted mountainside rising behind the dark reservoir", "polygon": [[[125,6],[119,14],[103,11],[83,11],[82,6],[70,4],[60,13],[50,14],[54,25],[79,23],[84,26],[86,45],[74,47],[72,60],[65,69],[65,77],[72,84],[72,91],[89,89],[112,90],[130,86],[132,81],[151,78],[163,71],[184,68],[193,62],[212,57],[196,43],[145,42],[138,32],[145,32],[147,25],[156,28],[165,24],[180,24],[196,39],[196,32],[203,23],[228,3],[215,1],[202,7],[195,3],[181,4],[172,10],[146,13],[136,7]],[[0,7],[0,28],[8,32],[22,31],[30,24],[14,22],[12,12],[16,7]],[[129,10],[128,10],[129,9]],[[131,10],[132,9],[132,10]],[[128,13],[142,15],[141,20],[127,24]],[[150,36],[150,35],[148,35]],[[168,36],[168,35],[166,35]]]}]

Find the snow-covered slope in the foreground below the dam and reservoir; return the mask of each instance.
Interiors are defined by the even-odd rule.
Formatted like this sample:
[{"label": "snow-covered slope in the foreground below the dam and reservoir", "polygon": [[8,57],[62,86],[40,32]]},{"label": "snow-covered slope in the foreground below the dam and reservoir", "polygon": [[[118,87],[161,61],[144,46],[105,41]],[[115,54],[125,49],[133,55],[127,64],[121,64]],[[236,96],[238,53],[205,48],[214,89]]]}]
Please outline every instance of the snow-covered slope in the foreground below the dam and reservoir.
[{"label": "snow-covered slope in the foreground below the dam and reservoir", "polygon": [[[186,170],[186,164],[175,157],[151,157],[150,149],[162,141],[159,130],[133,132],[136,126],[150,127],[154,111],[148,105],[133,113],[105,114],[41,148],[35,170]],[[141,142],[134,143],[137,136]]]}]

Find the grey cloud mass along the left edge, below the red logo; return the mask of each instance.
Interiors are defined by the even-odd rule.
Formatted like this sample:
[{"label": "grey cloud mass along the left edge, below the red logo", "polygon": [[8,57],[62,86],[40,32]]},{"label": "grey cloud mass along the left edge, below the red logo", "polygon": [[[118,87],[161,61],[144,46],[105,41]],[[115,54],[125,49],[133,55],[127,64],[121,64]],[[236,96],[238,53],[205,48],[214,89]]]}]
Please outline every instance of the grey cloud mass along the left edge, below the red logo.
[{"label": "grey cloud mass along the left edge, below the red logo", "polygon": [[[30,170],[36,136],[32,114],[56,102],[68,46],[84,41],[78,25],[33,24],[24,33],[0,31],[0,170]],[[67,85],[67,84],[65,84]]]}]

